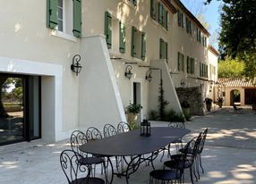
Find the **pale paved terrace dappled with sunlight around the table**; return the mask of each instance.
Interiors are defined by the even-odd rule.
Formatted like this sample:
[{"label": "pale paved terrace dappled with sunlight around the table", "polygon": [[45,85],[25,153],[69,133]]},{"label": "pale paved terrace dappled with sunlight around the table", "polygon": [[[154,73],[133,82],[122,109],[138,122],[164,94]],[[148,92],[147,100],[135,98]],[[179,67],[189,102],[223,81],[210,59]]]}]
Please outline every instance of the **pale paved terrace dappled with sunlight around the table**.
[{"label": "pale paved terrace dappled with sunlight around the table", "polygon": [[[153,124],[166,126],[163,122]],[[205,173],[195,183],[256,183],[256,114],[251,110],[243,110],[243,113],[238,114],[226,108],[204,117],[194,117],[186,123],[186,127],[192,133],[184,139],[197,136],[201,130],[209,128],[202,154]],[[68,140],[52,145],[37,140],[1,146],[0,183],[67,183],[59,163],[59,155],[65,148],[69,148]],[[159,162],[159,157],[155,161],[157,168],[163,164]],[[151,170],[151,167],[142,164],[131,176],[130,183],[148,184]],[[185,180],[190,183],[188,172],[185,173]],[[124,179],[115,178],[114,181],[115,184],[125,183]]]}]

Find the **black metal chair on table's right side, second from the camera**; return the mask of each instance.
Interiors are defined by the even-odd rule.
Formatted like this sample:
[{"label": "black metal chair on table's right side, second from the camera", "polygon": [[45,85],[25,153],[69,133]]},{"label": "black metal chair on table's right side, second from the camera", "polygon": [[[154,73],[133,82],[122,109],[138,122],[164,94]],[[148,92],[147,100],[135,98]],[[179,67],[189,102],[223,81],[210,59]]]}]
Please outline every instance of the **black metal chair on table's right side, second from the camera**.
[{"label": "black metal chair on table's right side, second from the camera", "polygon": [[164,165],[170,169],[177,169],[180,167],[181,162],[183,161],[183,156],[186,156],[185,162],[183,163],[183,169],[189,169],[190,170],[190,176],[191,181],[193,183],[193,176],[196,177],[196,180],[198,180],[197,176],[195,175],[195,165],[194,162],[197,158],[199,147],[201,144],[201,134],[198,137],[192,138],[183,148],[182,153],[178,155],[171,155],[171,160],[166,161]]}]

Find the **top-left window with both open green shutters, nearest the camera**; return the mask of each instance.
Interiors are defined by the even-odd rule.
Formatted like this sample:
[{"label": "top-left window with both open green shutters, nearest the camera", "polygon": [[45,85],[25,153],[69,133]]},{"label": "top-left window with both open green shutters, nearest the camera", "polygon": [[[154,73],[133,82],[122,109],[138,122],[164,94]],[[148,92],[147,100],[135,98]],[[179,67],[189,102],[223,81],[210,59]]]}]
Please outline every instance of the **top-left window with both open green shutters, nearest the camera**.
[{"label": "top-left window with both open green shutters, nearest the camera", "polygon": [[81,37],[81,0],[47,0],[47,28]]}]

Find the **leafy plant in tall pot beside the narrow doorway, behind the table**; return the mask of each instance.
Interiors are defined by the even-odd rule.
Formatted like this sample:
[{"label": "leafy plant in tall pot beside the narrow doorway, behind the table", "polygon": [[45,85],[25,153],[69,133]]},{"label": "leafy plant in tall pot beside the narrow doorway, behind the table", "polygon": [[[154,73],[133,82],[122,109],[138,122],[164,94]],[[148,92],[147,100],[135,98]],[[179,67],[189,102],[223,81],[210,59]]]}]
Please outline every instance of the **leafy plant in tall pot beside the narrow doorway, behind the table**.
[{"label": "leafy plant in tall pot beside the narrow doorway, behind the table", "polygon": [[140,104],[134,104],[131,102],[125,108],[127,122],[129,123],[132,130],[138,127],[136,120],[138,118],[138,114],[141,113],[142,108],[143,107]]}]

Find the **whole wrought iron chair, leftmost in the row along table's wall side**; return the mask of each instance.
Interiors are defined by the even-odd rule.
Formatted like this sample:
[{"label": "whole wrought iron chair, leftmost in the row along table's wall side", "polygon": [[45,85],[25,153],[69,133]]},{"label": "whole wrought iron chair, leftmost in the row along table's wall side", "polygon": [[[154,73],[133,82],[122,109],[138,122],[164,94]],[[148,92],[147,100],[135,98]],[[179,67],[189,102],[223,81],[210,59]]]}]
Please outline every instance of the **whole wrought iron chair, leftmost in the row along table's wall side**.
[{"label": "whole wrought iron chair, leftmost in the row along table's wall side", "polygon": [[74,152],[81,155],[78,163],[81,165],[88,165],[91,170],[91,174],[95,176],[95,167],[98,163],[104,163],[104,159],[101,157],[90,156],[79,149],[79,146],[87,143],[86,135],[80,130],[74,130],[71,134],[70,144]]}]

